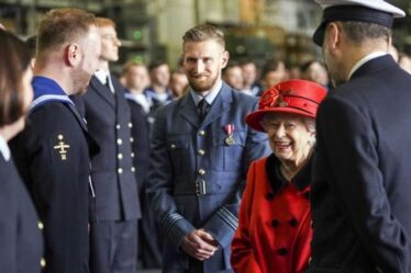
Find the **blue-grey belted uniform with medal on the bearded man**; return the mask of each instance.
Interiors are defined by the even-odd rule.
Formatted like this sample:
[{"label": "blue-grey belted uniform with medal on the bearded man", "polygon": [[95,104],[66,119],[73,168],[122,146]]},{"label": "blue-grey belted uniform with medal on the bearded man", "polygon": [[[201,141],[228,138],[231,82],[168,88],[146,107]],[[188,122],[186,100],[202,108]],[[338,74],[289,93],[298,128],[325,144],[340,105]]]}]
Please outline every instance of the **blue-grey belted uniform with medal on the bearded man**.
[{"label": "blue-grey belted uniform with medal on the bearded man", "polygon": [[[244,123],[257,99],[220,81],[204,100],[203,121],[191,90],[160,107],[155,117],[147,194],[164,239],[163,272],[187,272],[182,238],[204,228],[219,250],[197,272],[232,272],[230,243],[251,161],[269,153],[267,138]],[[190,270],[192,268],[190,265]]]}]

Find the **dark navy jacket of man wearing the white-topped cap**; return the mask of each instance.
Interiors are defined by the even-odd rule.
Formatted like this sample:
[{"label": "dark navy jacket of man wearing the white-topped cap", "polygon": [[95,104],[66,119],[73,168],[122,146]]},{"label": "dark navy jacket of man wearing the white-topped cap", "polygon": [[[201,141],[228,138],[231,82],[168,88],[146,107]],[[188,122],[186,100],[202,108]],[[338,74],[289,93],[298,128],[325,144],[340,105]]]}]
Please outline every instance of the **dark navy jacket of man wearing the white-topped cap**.
[{"label": "dark navy jacket of man wearing the white-topped cap", "polygon": [[411,76],[387,55],[320,105],[310,273],[411,272]]}]

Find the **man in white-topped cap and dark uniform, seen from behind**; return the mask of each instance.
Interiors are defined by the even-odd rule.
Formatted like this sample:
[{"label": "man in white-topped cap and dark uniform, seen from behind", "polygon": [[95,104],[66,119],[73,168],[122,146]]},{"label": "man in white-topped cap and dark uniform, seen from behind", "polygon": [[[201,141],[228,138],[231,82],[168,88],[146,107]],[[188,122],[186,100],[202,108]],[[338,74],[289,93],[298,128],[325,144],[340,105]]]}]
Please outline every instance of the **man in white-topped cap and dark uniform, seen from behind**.
[{"label": "man in white-topped cap and dark uniform, seen from behind", "polygon": [[411,272],[411,76],[388,55],[382,0],[318,0],[336,89],[316,116],[310,273]]}]

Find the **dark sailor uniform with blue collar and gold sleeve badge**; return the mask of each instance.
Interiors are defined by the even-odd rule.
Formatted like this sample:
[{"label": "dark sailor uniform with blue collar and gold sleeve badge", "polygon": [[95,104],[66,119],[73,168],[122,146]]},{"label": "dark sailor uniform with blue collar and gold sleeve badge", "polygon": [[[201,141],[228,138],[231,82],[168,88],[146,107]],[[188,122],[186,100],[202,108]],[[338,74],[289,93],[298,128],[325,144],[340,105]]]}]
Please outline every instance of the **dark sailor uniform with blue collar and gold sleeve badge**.
[{"label": "dark sailor uniform with blue collar and gold sleeve badge", "polygon": [[88,273],[86,124],[57,82],[34,77],[33,89],[27,126],[11,148],[44,225],[44,272]]}]

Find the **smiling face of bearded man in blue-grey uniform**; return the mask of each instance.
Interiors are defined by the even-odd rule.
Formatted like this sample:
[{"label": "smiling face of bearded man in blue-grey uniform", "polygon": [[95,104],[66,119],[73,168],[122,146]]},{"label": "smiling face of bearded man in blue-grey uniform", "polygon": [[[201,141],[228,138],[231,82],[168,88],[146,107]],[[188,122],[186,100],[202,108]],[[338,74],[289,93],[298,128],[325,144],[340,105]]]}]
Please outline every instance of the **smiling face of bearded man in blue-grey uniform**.
[{"label": "smiling face of bearded man in blue-grey uniform", "polygon": [[196,92],[212,89],[226,66],[229,53],[213,39],[187,42],[184,45],[184,69]]}]

